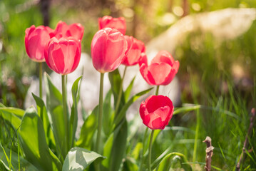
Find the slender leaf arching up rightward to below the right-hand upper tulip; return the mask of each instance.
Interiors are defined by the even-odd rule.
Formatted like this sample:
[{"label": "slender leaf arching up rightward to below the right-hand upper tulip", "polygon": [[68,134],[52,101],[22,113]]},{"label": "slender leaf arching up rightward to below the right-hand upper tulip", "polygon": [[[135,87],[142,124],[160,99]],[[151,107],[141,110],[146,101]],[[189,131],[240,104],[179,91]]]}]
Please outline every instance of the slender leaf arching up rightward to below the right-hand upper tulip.
[{"label": "slender leaf arching up rightward to below the right-hand upper tulip", "polygon": [[123,118],[126,117],[126,111],[130,107],[130,105],[132,105],[135,102],[135,100],[140,98],[140,96],[150,92],[150,90],[152,90],[152,88],[148,88],[147,90],[143,90],[140,93],[133,95],[133,97],[130,98],[130,100],[128,100],[128,102],[125,105],[123,105],[123,108],[121,109],[120,113],[118,113],[117,118],[114,120],[115,126],[118,125],[121,122],[121,120],[123,120]]}]

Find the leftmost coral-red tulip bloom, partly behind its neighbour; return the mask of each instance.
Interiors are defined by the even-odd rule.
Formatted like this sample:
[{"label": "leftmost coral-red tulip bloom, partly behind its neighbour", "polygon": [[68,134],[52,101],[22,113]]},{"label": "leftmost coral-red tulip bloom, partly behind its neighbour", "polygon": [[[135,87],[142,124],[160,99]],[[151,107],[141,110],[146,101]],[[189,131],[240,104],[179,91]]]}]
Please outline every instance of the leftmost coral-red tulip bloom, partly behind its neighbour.
[{"label": "leftmost coral-red tulip bloom, partly behind its neighbour", "polygon": [[44,48],[50,40],[50,34],[53,30],[49,27],[34,25],[26,28],[25,31],[25,47],[29,58],[36,62],[43,62]]}]

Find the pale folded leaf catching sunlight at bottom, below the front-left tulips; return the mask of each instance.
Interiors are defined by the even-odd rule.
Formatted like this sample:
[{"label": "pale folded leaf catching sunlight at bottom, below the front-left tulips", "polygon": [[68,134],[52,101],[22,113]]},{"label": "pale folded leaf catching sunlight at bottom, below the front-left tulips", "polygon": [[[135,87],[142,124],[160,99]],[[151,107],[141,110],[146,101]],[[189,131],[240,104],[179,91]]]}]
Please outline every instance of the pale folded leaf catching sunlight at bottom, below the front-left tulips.
[{"label": "pale folded leaf catching sunlight at bottom, below the front-left tulips", "polygon": [[81,147],[73,147],[66,156],[62,171],[83,171],[88,165],[91,165],[91,163],[98,158],[104,159],[105,157]]}]

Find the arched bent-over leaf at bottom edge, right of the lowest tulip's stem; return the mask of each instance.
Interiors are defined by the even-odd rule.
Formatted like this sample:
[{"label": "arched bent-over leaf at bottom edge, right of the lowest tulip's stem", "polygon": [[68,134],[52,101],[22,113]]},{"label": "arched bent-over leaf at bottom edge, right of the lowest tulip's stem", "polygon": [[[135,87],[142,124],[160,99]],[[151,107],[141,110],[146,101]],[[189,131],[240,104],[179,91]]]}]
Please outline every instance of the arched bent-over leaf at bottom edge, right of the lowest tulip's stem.
[{"label": "arched bent-over leaf at bottom edge, right of the lowest tulip's stem", "polygon": [[180,152],[170,152],[168,155],[165,155],[163,160],[159,163],[159,165],[155,168],[154,171],[165,171],[170,170],[171,164],[173,162],[173,157],[179,157],[180,166],[185,171],[192,171],[192,167],[188,164],[188,160],[185,155]]}]

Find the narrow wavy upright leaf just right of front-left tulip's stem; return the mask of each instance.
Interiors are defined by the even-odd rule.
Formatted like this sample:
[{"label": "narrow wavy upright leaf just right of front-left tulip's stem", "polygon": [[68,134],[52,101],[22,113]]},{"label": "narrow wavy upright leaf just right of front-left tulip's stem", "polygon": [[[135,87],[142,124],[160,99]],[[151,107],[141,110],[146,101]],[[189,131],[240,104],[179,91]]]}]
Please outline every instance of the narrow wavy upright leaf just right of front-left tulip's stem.
[{"label": "narrow wavy upright leaf just right of front-left tulip's stem", "polygon": [[71,108],[71,118],[70,118],[70,144],[71,147],[73,147],[73,144],[75,142],[75,136],[76,136],[76,128],[77,128],[77,122],[78,122],[78,111],[77,111],[77,98],[78,98],[78,83],[81,80],[82,76],[76,79],[76,81],[73,83],[72,86],[72,98],[73,98],[73,105]]}]

